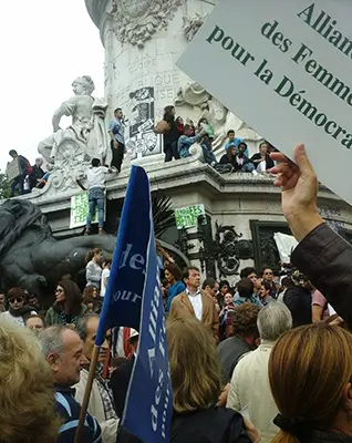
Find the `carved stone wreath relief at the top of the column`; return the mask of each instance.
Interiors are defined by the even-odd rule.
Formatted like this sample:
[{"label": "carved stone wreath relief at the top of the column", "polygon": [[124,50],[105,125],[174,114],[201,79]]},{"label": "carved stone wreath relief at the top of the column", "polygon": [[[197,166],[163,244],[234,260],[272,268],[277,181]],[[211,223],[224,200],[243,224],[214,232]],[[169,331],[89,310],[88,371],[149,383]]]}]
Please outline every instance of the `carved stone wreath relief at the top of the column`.
[{"label": "carved stone wreath relief at the top of the column", "polygon": [[111,14],[118,41],[143,48],[153,34],[166,29],[184,0],[113,0]]}]

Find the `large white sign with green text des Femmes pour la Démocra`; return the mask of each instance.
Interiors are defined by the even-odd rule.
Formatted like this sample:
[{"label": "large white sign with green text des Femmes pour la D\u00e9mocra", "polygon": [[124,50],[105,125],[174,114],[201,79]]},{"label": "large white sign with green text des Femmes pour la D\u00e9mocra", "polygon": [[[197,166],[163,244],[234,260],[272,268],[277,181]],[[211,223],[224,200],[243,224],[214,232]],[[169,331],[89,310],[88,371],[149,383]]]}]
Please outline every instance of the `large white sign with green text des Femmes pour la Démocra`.
[{"label": "large white sign with green text des Femmes pour la D\u00e9mocra", "polygon": [[352,204],[351,0],[222,0],[177,65]]}]

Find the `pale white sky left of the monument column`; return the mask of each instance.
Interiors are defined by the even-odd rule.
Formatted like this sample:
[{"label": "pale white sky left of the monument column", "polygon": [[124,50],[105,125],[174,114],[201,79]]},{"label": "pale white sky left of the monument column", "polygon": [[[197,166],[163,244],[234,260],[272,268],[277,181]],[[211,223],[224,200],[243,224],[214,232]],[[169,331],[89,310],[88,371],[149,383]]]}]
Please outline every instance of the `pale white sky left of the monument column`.
[{"label": "pale white sky left of the monument column", "polygon": [[[10,150],[34,163],[54,111],[81,75],[91,75],[93,95],[104,96],[104,48],[84,0],[0,2],[1,172]],[[69,124],[63,117],[61,127]]]}]

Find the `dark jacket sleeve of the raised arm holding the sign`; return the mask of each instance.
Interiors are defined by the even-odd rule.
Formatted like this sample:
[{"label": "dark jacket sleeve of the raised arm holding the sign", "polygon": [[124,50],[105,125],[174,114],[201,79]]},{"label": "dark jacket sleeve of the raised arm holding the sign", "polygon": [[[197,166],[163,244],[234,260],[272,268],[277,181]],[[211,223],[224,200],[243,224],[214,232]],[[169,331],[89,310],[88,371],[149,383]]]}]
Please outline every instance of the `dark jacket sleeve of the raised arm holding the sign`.
[{"label": "dark jacket sleeve of the raised arm holding the sign", "polygon": [[322,224],[297,246],[292,264],[352,328],[352,246]]}]

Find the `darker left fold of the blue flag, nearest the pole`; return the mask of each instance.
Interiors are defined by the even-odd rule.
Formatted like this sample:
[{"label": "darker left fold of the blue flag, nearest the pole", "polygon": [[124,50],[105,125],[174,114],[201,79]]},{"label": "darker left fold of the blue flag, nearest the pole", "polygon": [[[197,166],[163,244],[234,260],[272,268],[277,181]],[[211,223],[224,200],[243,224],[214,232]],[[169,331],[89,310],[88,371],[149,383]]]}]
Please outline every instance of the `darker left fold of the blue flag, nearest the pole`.
[{"label": "darker left fold of the blue flag, nearest the pole", "polygon": [[149,212],[148,177],[142,167],[133,166],[99,322],[96,346],[103,344],[106,330],[115,326],[139,331],[146,250],[151,236]]}]

